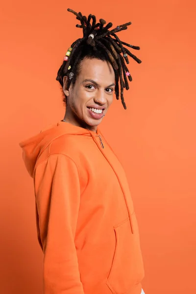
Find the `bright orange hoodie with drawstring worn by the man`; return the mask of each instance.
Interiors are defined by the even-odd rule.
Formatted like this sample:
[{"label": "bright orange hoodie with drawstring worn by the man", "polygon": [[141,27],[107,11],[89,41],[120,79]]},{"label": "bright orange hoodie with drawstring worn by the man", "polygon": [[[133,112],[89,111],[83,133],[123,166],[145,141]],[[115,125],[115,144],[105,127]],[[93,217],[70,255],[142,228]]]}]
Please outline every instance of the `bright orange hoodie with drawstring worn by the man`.
[{"label": "bright orange hoodie with drawstring worn by the man", "polygon": [[59,122],[20,146],[34,178],[44,294],[140,294],[133,203],[99,129]]}]

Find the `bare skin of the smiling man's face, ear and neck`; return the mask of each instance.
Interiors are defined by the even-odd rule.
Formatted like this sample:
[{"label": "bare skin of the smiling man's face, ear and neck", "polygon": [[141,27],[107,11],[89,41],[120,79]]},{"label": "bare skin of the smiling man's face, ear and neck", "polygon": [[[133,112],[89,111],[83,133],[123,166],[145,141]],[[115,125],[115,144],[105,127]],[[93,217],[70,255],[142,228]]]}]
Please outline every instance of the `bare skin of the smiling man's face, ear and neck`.
[{"label": "bare skin of the smiling man's face, ear and neck", "polygon": [[67,89],[68,77],[63,78],[63,92],[67,96],[64,120],[73,125],[96,132],[102,118],[94,119],[89,114],[91,105],[103,107],[107,113],[114,96],[115,74],[111,64],[96,58],[81,61],[75,84]]}]

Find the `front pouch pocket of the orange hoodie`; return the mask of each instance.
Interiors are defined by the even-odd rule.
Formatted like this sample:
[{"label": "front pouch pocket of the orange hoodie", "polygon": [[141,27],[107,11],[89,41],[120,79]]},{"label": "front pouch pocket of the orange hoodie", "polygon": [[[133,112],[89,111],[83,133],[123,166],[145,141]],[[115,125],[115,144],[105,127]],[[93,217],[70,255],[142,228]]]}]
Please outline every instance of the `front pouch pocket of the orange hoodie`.
[{"label": "front pouch pocket of the orange hoodie", "polygon": [[135,213],[131,216],[134,229],[132,233],[130,221],[127,219],[114,227],[116,248],[107,286],[113,294],[126,294],[144,277],[143,260],[140,249],[138,225]]}]

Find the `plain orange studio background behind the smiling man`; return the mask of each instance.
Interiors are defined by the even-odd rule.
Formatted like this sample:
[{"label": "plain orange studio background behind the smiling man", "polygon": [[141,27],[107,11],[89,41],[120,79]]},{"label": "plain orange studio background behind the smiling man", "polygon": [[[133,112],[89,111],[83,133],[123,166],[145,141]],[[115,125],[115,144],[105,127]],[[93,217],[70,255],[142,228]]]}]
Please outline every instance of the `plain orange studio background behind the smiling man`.
[{"label": "plain orange studio background behind the smiling man", "polygon": [[[196,293],[196,24],[194,0],[3,1],[0,5],[0,293],[42,294],[33,181],[18,143],[64,116],[56,73],[81,36],[70,7],[140,46],[127,110],[101,129],[120,157],[140,226],[146,294]],[[100,167],[101,168],[101,167]]]}]

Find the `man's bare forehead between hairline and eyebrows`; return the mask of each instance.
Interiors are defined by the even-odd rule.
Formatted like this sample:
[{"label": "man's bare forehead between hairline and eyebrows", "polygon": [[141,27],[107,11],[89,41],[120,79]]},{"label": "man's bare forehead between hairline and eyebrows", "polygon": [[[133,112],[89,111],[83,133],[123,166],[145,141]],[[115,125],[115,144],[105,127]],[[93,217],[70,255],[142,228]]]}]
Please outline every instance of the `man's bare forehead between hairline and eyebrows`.
[{"label": "man's bare forehead between hairline and eyebrows", "polygon": [[112,84],[115,81],[115,74],[111,64],[97,58],[85,58],[80,64],[78,78],[93,79],[98,83]]}]

